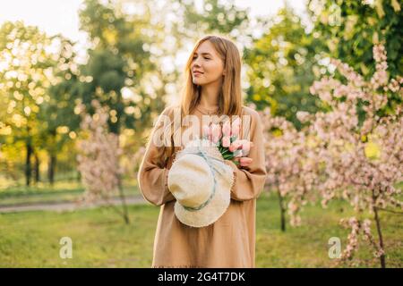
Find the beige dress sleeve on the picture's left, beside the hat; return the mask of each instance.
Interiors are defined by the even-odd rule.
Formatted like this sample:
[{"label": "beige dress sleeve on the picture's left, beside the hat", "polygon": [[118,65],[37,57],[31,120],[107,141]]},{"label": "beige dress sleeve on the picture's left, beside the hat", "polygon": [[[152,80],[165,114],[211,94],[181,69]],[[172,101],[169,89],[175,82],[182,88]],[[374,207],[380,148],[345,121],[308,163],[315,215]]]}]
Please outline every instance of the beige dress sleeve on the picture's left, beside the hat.
[{"label": "beige dress sleeve on the picture's left, beside the hat", "polygon": [[[162,114],[167,115],[167,108]],[[142,158],[140,170],[137,176],[142,196],[155,206],[164,205],[168,201],[175,199],[167,188],[167,175],[169,170],[166,167],[160,168],[159,164],[156,162],[158,147],[155,145],[153,139],[160,122],[161,116],[159,117],[159,122],[157,122],[152,130],[150,141],[146,148],[144,157]]]}]

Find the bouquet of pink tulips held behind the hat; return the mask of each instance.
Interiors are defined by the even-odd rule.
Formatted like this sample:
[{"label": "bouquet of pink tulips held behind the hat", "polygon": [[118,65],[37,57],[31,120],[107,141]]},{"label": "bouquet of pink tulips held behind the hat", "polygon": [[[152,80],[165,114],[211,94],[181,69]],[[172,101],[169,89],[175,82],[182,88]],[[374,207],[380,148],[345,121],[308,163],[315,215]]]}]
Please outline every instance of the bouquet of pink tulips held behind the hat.
[{"label": "bouquet of pink tulips held behind the hat", "polygon": [[208,139],[214,146],[219,148],[219,152],[225,160],[231,160],[236,165],[248,166],[252,163],[252,158],[247,157],[253,142],[246,139],[238,139],[241,128],[240,118],[234,122],[224,122],[222,128],[220,124],[210,123],[203,125],[203,139]]}]

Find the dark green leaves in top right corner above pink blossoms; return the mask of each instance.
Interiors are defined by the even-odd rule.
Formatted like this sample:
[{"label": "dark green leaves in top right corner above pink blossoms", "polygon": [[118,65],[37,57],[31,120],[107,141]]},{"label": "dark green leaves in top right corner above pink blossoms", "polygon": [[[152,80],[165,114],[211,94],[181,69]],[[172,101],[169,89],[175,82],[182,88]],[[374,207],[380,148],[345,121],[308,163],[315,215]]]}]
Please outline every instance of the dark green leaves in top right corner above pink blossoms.
[{"label": "dark green leaves in top right corner above pink blossoms", "polygon": [[326,40],[331,57],[348,63],[368,80],[375,71],[373,45],[384,43],[390,77],[403,74],[403,1],[310,0],[314,33]]}]

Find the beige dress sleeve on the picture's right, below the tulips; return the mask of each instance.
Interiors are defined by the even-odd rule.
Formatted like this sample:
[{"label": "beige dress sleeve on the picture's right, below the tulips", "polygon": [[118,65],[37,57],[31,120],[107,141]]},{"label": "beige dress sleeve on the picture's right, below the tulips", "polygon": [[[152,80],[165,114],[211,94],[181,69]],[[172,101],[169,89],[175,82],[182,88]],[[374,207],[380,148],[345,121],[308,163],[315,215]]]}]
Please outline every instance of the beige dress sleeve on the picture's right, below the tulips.
[{"label": "beige dress sleeve on the picture's right, below the tulips", "polygon": [[234,185],[231,189],[231,198],[239,201],[259,197],[266,181],[266,162],[263,145],[263,128],[260,115],[253,111],[251,122],[251,140],[253,147],[248,157],[253,159],[247,167],[238,168],[234,162],[226,160],[226,164],[234,171]]}]

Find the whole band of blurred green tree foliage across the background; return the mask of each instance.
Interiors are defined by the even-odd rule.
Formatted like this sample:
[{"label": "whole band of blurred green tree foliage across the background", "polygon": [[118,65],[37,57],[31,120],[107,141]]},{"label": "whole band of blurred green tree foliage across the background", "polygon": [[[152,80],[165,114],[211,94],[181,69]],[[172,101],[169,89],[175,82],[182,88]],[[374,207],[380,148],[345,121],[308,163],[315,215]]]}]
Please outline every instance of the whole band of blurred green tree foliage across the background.
[{"label": "whole band of blurred green tree foliage across the background", "polygon": [[[122,135],[125,154],[133,154],[144,145],[167,95],[178,96],[183,82],[176,60],[187,45],[217,33],[243,46],[257,27],[247,9],[239,9],[234,1],[204,0],[196,5],[193,0],[167,0],[161,5],[158,0],[139,0],[130,2],[133,13],[124,9],[128,3],[84,1],[79,12],[81,30],[90,40],[84,62],[73,52],[75,43],[60,35],[48,37],[22,22],[3,23],[0,172],[8,175],[7,180],[19,180],[27,145],[39,153],[42,170],[48,156],[73,162],[74,139],[80,136],[80,110],[74,107],[82,102],[91,112],[92,99],[109,106],[110,130]],[[273,114],[286,116],[296,127],[300,127],[296,111],[328,108],[308,90],[327,72],[326,57],[348,63],[368,79],[374,71],[373,42],[384,42],[390,77],[401,75],[403,67],[401,0],[374,0],[373,6],[352,0],[312,0],[308,7],[312,31],[286,5],[275,17],[258,19],[259,25],[265,25],[262,37],[241,51],[249,81],[246,101],[258,109],[270,105]],[[14,47],[22,54],[13,54]],[[398,104],[401,100],[382,113],[390,113]]]}]

